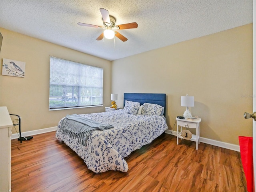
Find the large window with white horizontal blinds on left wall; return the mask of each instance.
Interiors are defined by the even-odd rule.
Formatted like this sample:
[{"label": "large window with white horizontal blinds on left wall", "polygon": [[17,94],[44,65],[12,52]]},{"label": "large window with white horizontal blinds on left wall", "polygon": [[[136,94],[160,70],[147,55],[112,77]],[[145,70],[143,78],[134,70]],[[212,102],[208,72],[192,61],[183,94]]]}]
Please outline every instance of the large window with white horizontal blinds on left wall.
[{"label": "large window with white horizontal blinds on left wall", "polygon": [[49,109],[102,105],[103,68],[50,57]]}]

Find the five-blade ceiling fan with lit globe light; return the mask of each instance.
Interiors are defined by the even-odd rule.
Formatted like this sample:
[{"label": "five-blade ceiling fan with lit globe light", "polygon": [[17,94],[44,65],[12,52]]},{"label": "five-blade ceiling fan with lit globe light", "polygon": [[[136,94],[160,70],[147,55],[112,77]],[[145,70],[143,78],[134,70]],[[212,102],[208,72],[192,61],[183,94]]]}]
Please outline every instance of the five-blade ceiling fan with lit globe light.
[{"label": "five-blade ceiling fan with lit globe light", "polygon": [[116,32],[114,30],[132,29],[132,28],[138,27],[138,24],[136,22],[116,25],[116,19],[113,16],[109,15],[108,10],[106,10],[104,8],[100,8],[100,13],[103,18],[104,26],[91,25],[91,24],[86,24],[86,23],[78,23],[78,25],[81,25],[81,26],[106,29],[106,30],[104,30],[104,32],[102,34],[100,34],[100,36],[98,36],[98,38],[96,38],[96,40],[98,40],[98,41],[102,40],[103,37],[112,39],[112,38],[114,38],[114,36],[116,36],[123,42],[127,41],[127,38],[125,36],[121,35],[120,33]]}]

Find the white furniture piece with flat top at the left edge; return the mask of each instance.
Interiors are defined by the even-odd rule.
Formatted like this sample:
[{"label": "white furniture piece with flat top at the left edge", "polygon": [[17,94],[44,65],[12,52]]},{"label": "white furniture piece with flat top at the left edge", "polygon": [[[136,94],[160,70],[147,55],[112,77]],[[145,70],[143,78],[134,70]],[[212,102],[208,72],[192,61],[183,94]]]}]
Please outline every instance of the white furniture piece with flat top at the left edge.
[{"label": "white furniture piece with flat top at the left edge", "polygon": [[0,107],[0,191],[11,191],[12,119],[7,107]]}]

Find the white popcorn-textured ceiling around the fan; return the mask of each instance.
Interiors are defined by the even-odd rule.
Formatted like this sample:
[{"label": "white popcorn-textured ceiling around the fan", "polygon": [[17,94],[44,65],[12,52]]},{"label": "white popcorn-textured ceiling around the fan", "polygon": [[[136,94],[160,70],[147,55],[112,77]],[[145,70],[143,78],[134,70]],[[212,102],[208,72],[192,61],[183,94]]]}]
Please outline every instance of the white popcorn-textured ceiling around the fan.
[{"label": "white popcorn-textured ceiling around the fan", "polygon": [[[118,30],[126,42],[96,38],[103,29],[100,8],[116,25],[137,22],[138,28]],[[0,0],[0,27],[107,60],[213,34],[252,23],[252,0]]]}]

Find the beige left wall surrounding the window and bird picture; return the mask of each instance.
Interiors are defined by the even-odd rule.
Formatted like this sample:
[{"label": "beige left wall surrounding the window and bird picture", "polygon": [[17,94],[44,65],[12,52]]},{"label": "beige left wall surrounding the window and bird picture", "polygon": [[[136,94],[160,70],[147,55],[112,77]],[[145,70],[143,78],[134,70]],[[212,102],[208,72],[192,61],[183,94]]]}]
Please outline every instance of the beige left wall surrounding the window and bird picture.
[{"label": "beige left wall surrounding the window and bird picture", "polygon": [[[105,106],[110,106],[110,61],[3,28],[1,33],[0,105],[7,106],[10,113],[21,116],[22,132],[55,127],[66,114],[103,112]],[[104,68],[104,106],[49,111],[50,56]],[[25,77],[2,75],[3,58],[26,62]]]}]

